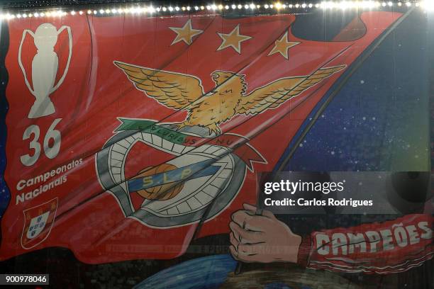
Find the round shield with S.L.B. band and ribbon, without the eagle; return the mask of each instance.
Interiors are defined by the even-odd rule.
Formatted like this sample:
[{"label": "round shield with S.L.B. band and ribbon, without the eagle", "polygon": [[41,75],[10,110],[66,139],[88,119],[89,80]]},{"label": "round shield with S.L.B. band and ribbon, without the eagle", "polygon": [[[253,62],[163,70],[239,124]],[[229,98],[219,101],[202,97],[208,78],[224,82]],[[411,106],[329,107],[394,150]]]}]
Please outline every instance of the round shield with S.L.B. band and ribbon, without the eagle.
[{"label": "round shield with S.L.B. band and ribbon, without the eagle", "polygon": [[[99,181],[118,200],[124,215],[151,227],[178,227],[216,216],[236,196],[252,162],[265,159],[243,137],[209,137],[199,126],[178,129],[154,120],[120,118],[116,135],[96,155]],[[231,146],[242,143],[237,149]],[[127,157],[143,143],[174,157],[163,164],[143,164],[126,179]],[[133,196],[142,199],[133,203]],[[206,212],[213,203],[211,211]]]}]

